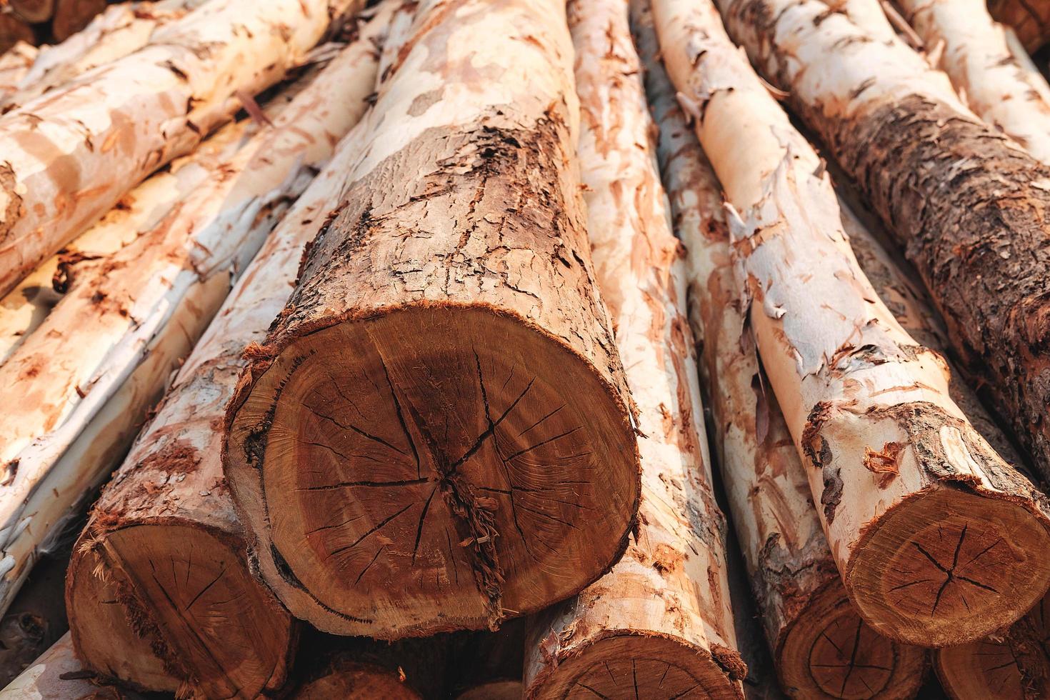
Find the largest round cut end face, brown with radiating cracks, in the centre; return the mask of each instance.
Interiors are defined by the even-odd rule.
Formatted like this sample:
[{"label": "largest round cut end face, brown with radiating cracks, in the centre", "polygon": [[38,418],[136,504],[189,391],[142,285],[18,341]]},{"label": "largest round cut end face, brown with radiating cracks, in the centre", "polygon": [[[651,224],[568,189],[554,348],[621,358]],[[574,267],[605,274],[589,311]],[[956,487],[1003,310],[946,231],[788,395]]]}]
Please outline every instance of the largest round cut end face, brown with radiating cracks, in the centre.
[{"label": "largest round cut end face, brown with radiating cracks, in the centre", "polygon": [[300,335],[239,402],[227,475],[262,573],[328,632],[485,628],[573,595],[626,547],[626,407],[513,315],[406,306]]}]

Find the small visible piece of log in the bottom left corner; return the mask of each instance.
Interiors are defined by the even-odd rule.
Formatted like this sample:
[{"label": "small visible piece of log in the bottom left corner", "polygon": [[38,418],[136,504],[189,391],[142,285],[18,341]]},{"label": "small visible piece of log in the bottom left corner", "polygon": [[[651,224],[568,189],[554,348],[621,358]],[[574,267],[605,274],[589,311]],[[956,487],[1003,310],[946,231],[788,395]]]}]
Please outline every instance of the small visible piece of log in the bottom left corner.
[{"label": "small visible piece of log in the bottom left corner", "polygon": [[4,700],[141,700],[110,679],[85,672],[65,635],[0,693]]}]

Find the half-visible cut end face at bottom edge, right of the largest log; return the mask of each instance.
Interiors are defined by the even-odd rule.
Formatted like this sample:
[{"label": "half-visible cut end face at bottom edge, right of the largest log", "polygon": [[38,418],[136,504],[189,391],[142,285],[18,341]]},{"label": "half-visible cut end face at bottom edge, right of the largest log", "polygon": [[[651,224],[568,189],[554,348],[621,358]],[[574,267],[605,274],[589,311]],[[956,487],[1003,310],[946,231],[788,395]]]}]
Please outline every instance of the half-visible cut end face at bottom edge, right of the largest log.
[{"label": "half-visible cut end face at bottom edge, right of the largest log", "polygon": [[739,700],[733,681],[700,648],[667,635],[616,633],[550,663],[532,681],[528,698],[710,698]]}]

